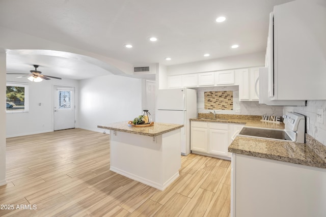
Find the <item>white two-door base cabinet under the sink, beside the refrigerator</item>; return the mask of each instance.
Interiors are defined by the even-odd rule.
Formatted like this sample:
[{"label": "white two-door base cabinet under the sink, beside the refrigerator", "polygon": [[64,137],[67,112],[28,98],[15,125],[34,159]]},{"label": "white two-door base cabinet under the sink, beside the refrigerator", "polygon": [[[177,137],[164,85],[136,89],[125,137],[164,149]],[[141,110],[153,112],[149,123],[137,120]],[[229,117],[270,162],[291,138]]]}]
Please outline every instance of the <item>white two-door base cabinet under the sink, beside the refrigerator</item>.
[{"label": "white two-door base cabinet under the sink, beside the refrigerator", "polygon": [[216,157],[231,158],[228,147],[232,135],[243,125],[191,121],[191,150]]}]

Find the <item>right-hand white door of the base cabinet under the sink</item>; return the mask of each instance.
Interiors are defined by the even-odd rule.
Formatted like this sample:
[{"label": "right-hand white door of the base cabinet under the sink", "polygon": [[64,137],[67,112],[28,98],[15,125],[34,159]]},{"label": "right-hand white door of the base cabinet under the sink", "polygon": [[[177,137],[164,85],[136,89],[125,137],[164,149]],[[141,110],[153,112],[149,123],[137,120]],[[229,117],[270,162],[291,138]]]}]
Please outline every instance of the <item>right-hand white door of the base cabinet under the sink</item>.
[{"label": "right-hand white door of the base cabinet under the sink", "polygon": [[228,131],[209,130],[208,153],[228,156]]}]

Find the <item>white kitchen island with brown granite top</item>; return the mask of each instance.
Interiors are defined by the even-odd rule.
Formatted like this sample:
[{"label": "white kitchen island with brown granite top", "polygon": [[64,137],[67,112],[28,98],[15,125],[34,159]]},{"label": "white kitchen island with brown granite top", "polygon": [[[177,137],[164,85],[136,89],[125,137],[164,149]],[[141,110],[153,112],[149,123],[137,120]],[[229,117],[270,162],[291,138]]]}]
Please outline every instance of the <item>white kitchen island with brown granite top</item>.
[{"label": "white kitchen island with brown granite top", "polygon": [[127,122],[97,126],[110,130],[110,170],[164,190],[179,176],[183,125],[155,122],[138,128]]}]

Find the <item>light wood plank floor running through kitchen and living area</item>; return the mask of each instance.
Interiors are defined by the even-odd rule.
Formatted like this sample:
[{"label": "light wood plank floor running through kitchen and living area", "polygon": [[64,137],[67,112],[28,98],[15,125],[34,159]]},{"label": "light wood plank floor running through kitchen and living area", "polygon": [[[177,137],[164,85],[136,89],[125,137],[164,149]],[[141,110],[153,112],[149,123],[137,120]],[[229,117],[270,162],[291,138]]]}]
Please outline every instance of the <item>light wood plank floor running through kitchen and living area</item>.
[{"label": "light wood plank floor running through kitchen and living area", "polygon": [[230,215],[229,161],[182,156],[180,176],[159,191],[110,171],[108,140],[82,129],[8,138],[0,204],[14,209],[0,216]]}]

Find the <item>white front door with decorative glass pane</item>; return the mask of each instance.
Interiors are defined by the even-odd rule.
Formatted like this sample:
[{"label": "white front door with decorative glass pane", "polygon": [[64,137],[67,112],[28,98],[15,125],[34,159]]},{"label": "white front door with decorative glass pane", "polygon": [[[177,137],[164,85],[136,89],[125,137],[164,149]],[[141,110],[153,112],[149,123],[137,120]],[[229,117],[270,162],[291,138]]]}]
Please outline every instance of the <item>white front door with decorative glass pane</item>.
[{"label": "white front door with decorative glass pane", "polygon": [[54,130],[75,128],[75,88],[54,86]]}]

